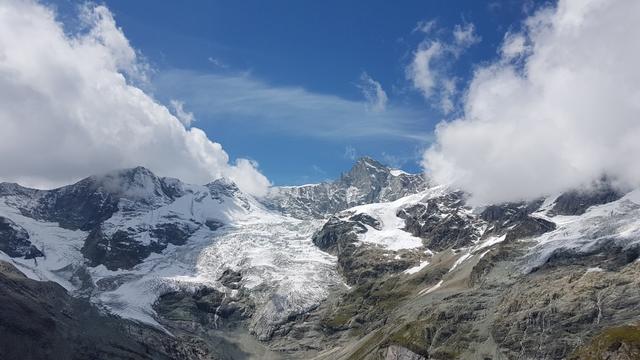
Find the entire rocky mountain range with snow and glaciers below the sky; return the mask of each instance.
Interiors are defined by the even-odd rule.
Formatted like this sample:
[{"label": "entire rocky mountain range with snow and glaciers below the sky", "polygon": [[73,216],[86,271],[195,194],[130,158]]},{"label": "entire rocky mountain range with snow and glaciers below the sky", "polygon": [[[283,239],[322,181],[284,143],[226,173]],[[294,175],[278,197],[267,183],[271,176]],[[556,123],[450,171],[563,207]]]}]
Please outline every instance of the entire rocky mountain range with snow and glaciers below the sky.
[{"label": "entire rocky mountain range with snow and glaciers below the sky", "polygon": [[364,158],[264,199],[136,168],[0,200],[3,358],[640,358],[640,192],[606,180],[471,206]]}]

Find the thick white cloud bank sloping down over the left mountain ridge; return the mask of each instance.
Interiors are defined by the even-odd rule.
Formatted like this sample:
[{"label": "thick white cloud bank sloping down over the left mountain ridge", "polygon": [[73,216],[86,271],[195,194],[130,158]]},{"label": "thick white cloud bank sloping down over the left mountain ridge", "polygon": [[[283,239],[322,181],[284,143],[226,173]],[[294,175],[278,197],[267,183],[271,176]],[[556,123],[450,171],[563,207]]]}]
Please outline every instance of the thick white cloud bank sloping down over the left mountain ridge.
[{"label": "thick white cloud bank sloping down over the left mountain ridge", "polygon": [[193,183],[226,176],[249,193],[266,192],[270,183],[254,162],[230,163],[220,144],[185,127],[193,117],[182,103],[178,119],[134,85],[147,66],[106,7],[81,13],[82,29],[69,34],[45,6],[0,3],[0,180],[51,187],[143,165]]}]

